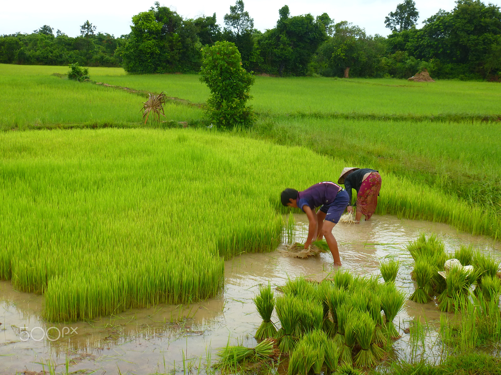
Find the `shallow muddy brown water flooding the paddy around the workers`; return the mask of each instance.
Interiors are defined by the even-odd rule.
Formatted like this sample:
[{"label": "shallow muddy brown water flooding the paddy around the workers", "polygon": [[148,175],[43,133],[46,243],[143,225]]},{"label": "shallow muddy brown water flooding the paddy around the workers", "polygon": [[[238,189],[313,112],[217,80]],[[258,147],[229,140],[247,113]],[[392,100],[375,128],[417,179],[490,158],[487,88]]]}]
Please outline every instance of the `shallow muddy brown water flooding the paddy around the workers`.
[{"label": "shallow muddy brown water flooding the paddy around the workers", "polygon": [[[305,215],[296,215],[296,222],[294,239],[301,242],[308,221]],[[402,261],[396,283],[408,295],[414,283],[405,245],[421,232],[437,233],[448,251],[471,243],[501,257],[499,242],[441,223],[374,216],[360,224],[339,223],[333,230],[343,267],[356,273],[379,274],[380,260],[396,255]],[[160,304],[68,324],[45,322],[41,318],[43,296],[18,292],[9,281],[0,281],[0,373],[48,370],[47,363],[56,365],[56,372],[66,373],[66,361],[69,372],[80,373],[210,372],[207,363],[216,359],[217,348],[228,341],[256,344],[253,335],[261,318],[252,298],[261,283],[270,280],[282,285],[287,277],[300,274],[321,280],[336,271],[332,262],[330,253],[307,259],[284,257],[280,251],[242,254],[225,262],[224,288],[214,298],[190,305]],[[404,329],[416,316],[423,322],[436,321],[440,313],[434,302],[419,305],[407,301],[395,320],[402,338],[394,343],[393,357],[412,354]],[[428,346],[430,352],[435,350],[433,339]]]}]

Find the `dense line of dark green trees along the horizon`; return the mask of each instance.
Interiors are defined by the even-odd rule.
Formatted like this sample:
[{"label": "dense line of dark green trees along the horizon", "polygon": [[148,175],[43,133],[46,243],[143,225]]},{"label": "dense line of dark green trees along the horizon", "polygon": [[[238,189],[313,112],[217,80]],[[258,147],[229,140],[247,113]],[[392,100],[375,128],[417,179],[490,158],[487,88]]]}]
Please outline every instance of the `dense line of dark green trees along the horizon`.
[{"label": "dense line of dark green trees along the horizon", "polygon": [[437,78],[498,79],[501,76],[501,11],[480,0],[458,0],[418,28],[412,0],[398,4],[384,20],[387,37],[368,35],[327,13],[293,15],[285,5],[276,27],[261,32],[237,0],[224,16],[183,18],[158,2],[132,17],[131,32],[115,38],[95,33],[87,21],[69,37],[44,25],[31,34],[0,36],[0,62],[25,64],[122,65],[130,73],[199,71],[201,49],[231,41],[247,71],[276,75],[409,77],[427,68]]}]

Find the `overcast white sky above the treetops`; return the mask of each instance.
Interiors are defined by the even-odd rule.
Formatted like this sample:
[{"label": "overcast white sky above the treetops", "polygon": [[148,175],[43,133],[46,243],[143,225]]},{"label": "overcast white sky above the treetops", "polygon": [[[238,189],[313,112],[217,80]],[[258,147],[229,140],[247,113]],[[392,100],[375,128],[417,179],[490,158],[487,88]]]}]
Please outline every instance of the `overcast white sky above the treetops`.
[{"label": "overcast white sky above the treetops", "polygon": [[[130,32],[131,18],[140,11],[148,10],[155,0],[25,0],[20,3],[13,0],[0,0],[0,34],[18,31],[32,32],[44,24],[59,28],[70,36],[80,33],[80,25],[89,19],[97,30],[109,32],[115,36]],[[415,0],[419,11],[418,24],[438,9],[451,10],[453,0]],[[164,0],[161,5],[175,9],[183,17],[197,17],[216,13],[217,22],[223,24],[224,14],[235,0]],[[275,27],[278,10],[289,5],[291,15],[311,13],[314,16],[327,12],[336,22],[348,20],[364,27],[369,34],[387,35],[389,29],[384,26],[384,17],[394,11],[403,0],[244,0],[245,9],[254,18],[257,29],[264,31]],[[488,2],[485,1],[484,2]],[[501,0],[494,0],[499,4]],[[420,26],[419,26],[420,27]]]}]

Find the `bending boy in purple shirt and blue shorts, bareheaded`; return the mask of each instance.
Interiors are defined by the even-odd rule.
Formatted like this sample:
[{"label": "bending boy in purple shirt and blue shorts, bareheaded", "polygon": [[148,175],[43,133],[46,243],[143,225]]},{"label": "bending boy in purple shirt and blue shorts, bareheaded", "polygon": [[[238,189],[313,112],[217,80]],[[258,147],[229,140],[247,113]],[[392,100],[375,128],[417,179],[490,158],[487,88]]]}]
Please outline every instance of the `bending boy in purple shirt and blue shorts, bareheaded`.
[{"label": "bending boy in purple shirt and blue shorts, bareheaded", "polygon": [[[349,198],[346,190],[334,182],[325,181],[316,183],[303,191],[285,189],[280,198],[283,205],[299,207],[308,216],[310,225],[305,248],[308,248],[314,240],[319,241],[325,237],[334,258],[334,265],[341,265],[338,242],[332,234],[332,228],[338,223],[348,205]],[[315,207],[320,207],[317,213],[315,213]]]}]

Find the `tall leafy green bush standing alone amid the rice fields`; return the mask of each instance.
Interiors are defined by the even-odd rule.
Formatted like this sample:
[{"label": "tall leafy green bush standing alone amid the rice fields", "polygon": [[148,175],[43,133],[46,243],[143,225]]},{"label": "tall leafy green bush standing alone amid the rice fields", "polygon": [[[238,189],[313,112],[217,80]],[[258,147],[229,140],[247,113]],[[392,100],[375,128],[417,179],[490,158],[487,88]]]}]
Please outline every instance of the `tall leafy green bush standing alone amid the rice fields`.
[{"label": "tall leafy green bush standing alone amid the rice fields", "polygon": [[207,99],[210,120],[226,128],[252,125],[254,112],[245,102],[252,97],[249,90],[255,78],[241,66],[235,44],[218,41],[204,47],[202,54],[200,81],[210,89]]}]

